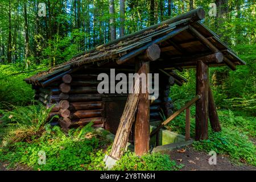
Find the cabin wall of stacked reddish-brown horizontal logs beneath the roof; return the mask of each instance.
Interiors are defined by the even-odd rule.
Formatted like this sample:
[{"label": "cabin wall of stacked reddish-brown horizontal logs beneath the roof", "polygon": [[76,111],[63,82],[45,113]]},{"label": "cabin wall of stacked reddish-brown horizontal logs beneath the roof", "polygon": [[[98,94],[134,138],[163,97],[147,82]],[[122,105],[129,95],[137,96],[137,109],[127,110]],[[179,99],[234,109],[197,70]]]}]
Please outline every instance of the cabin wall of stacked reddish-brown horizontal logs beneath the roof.
[{"label": "cabin wall of stacked reddish-brown horizontal logs beneath the roof", "polygon": [[[35,99],[46,105],[47,108],[52,107],[49,119],[54,115],[59,115],[61,127],[79,127],[84,126],[90,121],[94,123],[93,127],[104,127],[115,134],[119,124],[119,118],[122,115],[127,94],[98,94],[97,81],[98,73],[105,72],[109,75],[109,69],[82,69],[80,71],[64,75],[46,88],[34,88],[36,90]],[[115,74],[124,72],[126,74],[133,73],[132,70],[121,69],[115,70]],[[162,121],[172,114],[172,101],[168,98],[170,86],[174,85],[174,78],[168,78],[159,75],[159,98],[150,105],[150,122]],[[119,82],[116,81],[115,84]],[[128,90],[127,85],[127,90]],[[117,103],[117,104],[111,104]],[[113,108],[106,108],[105,105]],[[112,109],[112,115],[108,115]],[[106,113],[108,111],[108,113]],[[160,114],[161,113],[161,114]],[[114,119],[114,121],[113,121]]]}]

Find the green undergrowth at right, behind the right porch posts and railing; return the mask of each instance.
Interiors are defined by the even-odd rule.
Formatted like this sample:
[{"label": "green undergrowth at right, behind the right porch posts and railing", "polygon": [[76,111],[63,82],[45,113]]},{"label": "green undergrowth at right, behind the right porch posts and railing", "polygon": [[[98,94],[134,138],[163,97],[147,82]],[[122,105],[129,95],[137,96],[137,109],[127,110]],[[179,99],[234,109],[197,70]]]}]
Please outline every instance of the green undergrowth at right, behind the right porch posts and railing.
[{"label": "green undergrowth at right, behind the right porch posts and railing", "polygon": [[[218,110],[222,131],[214,133],[209,123],[209,138],[195,141],[193,147],[199,151],[216,151],[228,155],[235,163],[256,166],[256,147],[253,143],[256,119],[242,111]],[[185,112],[171,121],[168,130],[185,135]],[[191,107],[191,137],[195,138],[195,106]]]}]

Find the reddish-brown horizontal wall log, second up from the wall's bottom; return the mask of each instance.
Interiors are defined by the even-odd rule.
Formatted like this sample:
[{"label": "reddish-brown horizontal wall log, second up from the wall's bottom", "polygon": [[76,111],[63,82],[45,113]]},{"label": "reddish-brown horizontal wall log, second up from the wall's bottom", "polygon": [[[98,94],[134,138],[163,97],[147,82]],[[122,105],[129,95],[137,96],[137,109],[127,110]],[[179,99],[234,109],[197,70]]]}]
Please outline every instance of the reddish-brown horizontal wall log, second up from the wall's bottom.
[{"label": "reddish-brown horizontal wall log, second up from the wall's bottom", "polygon": [[80,118],[92,118],[92,117],[101,117],[102,109],[96,110],[77,110],[71,114],[71,119],[80,119]]}]

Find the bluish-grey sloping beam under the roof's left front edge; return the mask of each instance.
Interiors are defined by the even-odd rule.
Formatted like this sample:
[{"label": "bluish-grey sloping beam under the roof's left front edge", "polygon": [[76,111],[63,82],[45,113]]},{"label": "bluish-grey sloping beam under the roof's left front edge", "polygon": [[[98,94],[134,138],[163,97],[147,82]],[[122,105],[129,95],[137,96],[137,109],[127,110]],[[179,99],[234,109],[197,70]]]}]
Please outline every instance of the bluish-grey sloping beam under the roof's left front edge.
[{"label": "bluish-grey sloping beam under the roof's left front edge", "polygon": [[164,42],[166,41],[167,39],[170,39],[172,38],[173,36],[179,34],[180,32],[184,31],[184,30],[187,30],[188,29],[188,26],[183,26],[183,27],[180,27],[180,28],[177,28],[171,32],[169,32],[168,34],[158,38],[158,39],[155,39],[147,44],[145,44],[144,46],[138,48],[138,49],[135,49],[134,51],[131,51],[129,53],[127,53],[126,55],[123,55],[122,57],[120,57],[118,60],[117,60],[117,64],[123,64],[123,63],[126,63],[126,61],[130,60],[131,58],[135,57],[135,56],[138,56],[140,53],[144,52],[148,47],[150,47],[152,44],[159,44],[161,42]]}]

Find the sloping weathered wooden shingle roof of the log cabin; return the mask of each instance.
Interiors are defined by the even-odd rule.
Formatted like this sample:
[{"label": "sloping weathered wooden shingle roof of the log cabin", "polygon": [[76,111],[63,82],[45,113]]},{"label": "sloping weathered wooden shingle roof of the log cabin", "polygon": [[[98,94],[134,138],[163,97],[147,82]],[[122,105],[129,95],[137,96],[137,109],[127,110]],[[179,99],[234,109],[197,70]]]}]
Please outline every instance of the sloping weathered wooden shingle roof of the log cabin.
[{"label": "sloping weathered wooden shingle roof of the log cabin", "polygon": [[[40,85],[41,82],[49,80],[53,76],[67,74],[81,65],[93,64],[94,62],[97,62],[98,65],[106,61],[115,61],[118,64],[122,64],[138,56],[152,44],[158,44],[161,49],[160,58],[152,62],[156,67],[159,66],[161,69],[195,68],[195,63],[189,62],[188,59],[210,55],[213,51],[191,32],[191,27],[203,35],[210,44],[213,44],[224,55],[224,58],[231,62],[230,64],[246,64],[232,49],[221,42],[214,32],[199,22],[203,18],[203,9],[189,11],[154,26],[144,28],[141,31],[123,36],[113,42],[90,49],[73,57],[66,63],[26,78],[25,81],[30,84]],[[209,65],[216,67],[225,65],[225,63],[209,63]]]}]

